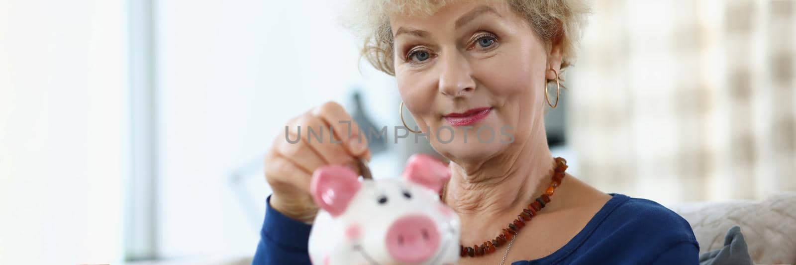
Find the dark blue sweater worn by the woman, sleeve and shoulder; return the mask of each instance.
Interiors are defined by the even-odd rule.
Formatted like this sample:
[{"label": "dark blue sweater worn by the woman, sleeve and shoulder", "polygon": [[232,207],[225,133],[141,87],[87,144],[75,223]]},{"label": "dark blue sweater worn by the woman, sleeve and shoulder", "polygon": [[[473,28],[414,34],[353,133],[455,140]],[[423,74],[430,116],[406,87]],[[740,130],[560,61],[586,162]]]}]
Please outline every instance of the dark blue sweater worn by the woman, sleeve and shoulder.
[{"label": "dark blue sweater worn by the woman, sleeve and shoulder", "polygon": [[[611,196],[564,247],[512,265],[699,264],[699,244],[688,221],[654,201]],[[309,264],[310,228],[267,206],[252,264]]]}]

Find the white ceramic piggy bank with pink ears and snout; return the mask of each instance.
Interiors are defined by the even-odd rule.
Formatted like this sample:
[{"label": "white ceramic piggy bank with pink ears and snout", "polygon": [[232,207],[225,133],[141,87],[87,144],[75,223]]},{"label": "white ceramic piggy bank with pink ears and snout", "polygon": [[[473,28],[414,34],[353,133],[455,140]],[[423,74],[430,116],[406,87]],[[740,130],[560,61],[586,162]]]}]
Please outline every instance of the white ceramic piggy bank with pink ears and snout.
[{"label": "white ceramic piggy bank with pink ears and snout", "polygon": [[458,216],[438,195],[450,177],[423,154],[409,158],[400,179],[359,181],[342,166],[315,170],[310,189],[321,210],[310,232],[312,263],[457,263]]}]

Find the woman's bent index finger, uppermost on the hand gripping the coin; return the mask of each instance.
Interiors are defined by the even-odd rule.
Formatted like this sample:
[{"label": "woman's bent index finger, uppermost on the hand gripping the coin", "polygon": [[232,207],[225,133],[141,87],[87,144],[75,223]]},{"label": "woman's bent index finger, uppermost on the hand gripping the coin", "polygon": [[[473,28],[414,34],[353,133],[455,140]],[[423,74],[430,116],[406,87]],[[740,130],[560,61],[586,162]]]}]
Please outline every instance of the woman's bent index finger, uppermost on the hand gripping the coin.
[{"label": "woman's bent index finger, uppermost on the hand gripping the coin", "polygon": [[368,150],[368,139],[361,135],[359,125],[351,119],[351,116],[338,103],[327,102],[311,111],[311,114],[319,117],[326,123],[327,128],[334,131],[338,141],[345,146],[349,154],[357,158],[370,158]]}]

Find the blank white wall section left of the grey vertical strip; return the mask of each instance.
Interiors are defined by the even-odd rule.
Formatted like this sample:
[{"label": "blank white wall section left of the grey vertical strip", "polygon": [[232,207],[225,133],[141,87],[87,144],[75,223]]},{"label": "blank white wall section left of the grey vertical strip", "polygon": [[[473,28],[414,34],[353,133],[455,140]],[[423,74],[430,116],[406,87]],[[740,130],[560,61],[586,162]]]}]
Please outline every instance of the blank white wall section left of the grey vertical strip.
[{"label": "blank white wall section left of the grey vertical strip", "polygon": [[124,4],[0,1],[0,264],[123,258]]}]

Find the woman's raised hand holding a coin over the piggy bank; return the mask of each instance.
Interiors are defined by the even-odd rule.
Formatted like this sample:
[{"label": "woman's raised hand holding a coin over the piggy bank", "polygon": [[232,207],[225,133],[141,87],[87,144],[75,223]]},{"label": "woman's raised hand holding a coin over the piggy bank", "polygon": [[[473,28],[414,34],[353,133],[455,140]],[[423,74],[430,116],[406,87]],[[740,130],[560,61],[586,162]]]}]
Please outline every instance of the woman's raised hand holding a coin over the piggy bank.
[{"label": "woman's raised hand holding a coin over the piggy bank", "polygon": [[286,127],[279,127],[281,133],[265,157],[265,178],[274,191],[271,208],[310,223],[318,212],[310,197],[312,173],[326,165],[349,166],[358,173],[357,160],[370,159],[368,142],[348,112],[334,102],[291,119]]}]

